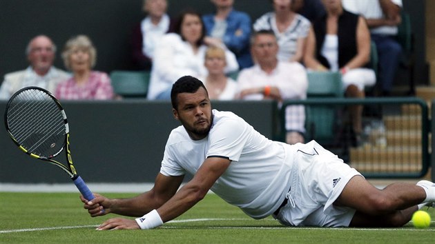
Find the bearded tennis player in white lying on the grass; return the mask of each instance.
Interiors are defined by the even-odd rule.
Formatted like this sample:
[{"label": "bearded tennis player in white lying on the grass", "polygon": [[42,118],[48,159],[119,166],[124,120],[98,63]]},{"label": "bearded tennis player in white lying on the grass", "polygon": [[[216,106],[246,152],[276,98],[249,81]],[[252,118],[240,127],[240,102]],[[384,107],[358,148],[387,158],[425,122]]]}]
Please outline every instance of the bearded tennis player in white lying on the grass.
[{"label": "bearded tennis player in white lying on the grass", "polygon": [[[272,215],[291,226],[399,227],[435,201],[432,182],[378,190],[316,141],[267,139],[232,112],[212,110],[204,84],[194,77],[174,83],[171,101],[182,125],[169,135],[153,189],[131,199],[81,196],[91,216],[138,217],[110,218],[97,230],[158,227],[209,190],[252,218]],[[186,172],[193,179],[179,190]]]}]

